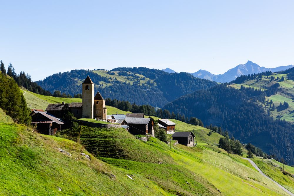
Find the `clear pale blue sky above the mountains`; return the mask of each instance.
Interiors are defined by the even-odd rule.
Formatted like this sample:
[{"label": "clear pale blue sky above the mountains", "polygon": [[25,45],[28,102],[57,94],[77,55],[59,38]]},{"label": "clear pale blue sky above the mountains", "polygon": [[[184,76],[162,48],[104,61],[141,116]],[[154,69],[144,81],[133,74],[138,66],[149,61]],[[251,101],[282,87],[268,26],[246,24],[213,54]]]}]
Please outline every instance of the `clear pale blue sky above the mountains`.
[{"label": "clear pale blue sky above the mountains", "polygon": [[32,80],[72,69],[224,73],[294,64],[294,1],[4,1],[0,59]]}]

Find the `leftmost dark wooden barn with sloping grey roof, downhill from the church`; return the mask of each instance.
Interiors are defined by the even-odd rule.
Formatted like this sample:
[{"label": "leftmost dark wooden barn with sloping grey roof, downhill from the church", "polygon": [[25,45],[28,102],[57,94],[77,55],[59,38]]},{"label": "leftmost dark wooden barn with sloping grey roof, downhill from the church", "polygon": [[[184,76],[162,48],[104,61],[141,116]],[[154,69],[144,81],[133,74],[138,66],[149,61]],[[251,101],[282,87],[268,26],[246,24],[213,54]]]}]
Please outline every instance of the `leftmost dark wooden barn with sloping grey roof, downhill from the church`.
[{"label": "leftmost dark wooden barn with sloping grey roof, downhill from the church", "polygon": [[37,130],[41,134],[54,135],[64,124],[59,118],[47,112],[32,111],[31,117],[31,124],[37,125]]}]

